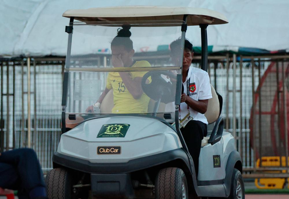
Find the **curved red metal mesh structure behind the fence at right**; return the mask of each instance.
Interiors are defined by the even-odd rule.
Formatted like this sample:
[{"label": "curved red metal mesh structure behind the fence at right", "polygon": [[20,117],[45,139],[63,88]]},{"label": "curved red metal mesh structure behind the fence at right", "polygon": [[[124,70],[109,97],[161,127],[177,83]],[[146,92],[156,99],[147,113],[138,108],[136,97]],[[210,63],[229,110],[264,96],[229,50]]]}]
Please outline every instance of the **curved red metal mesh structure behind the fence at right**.
[{"label": "curved red metal mesh structure behind the fence at right", "polygon": [[288,73],[288,62],[271,62],[262,78],[259,78],[249,121],[250,147],[254,149],[256,159],[260,156],[286,155],[289,142]]}]

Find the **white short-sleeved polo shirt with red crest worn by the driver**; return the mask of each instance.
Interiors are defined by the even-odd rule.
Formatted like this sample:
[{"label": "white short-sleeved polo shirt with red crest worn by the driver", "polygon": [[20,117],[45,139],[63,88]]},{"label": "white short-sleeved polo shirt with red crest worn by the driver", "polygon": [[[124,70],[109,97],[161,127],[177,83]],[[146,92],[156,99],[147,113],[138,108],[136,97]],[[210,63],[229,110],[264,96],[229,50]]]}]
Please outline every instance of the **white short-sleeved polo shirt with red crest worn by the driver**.
[{"label": "white short-sleeved polo shirt with red crest worn by the driver", "polygon": [[[190,79],[189,84],[188,79]],[[187,90],[189,86],[189,96],[196,101],[199,101],[199,99],[212,98],[209,74],[202,69],[190,66],[188,76],[183,85],[184,93],[186,93],[187,95]],[[179,119],[183,119],[188,114],[188,111],[190,112],[193,120],[198,120],[205,124],[208,124],[205,115],[193,110],[191,107],[189,107],[188,109],[188,105],[186,104],[186,102],[182,102],[180,105]]]}]

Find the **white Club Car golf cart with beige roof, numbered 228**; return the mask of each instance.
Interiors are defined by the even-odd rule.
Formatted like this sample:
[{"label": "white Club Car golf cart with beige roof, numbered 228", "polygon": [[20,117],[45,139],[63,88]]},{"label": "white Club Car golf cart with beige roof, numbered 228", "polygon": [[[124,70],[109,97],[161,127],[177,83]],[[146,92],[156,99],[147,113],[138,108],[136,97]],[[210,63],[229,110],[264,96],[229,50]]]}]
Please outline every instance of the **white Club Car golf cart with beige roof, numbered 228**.
[{"label": "white Club Car golf cart with beige roof, numbered 228", "polygon": [[[201,68],[206,71],[206,28],[227,23],[225,16],[202,8],[158,6],[67,10],[63,16],[70,18],[63,134],[46,177],[48,197],[244,199],[240,154],[233,136],[223,132],[222,100],[213,87],[205,114],[213,129],[202,140],[198,178],[179,129],[187,26],[201,28]],[[134,61],[146,65],[112,66],[110,43],[124,25],[130,27]],[[165,44],[179,38],[182,48],[176,65]],[[118,73],[141,77],[143,98],[127,99],[127,85],[110,76]],[[110,91],[100,107],[87,112],[105,89]],[[142,109],[134,105],[140,99],[146,102]],[[67,131],[68,125],[75,127]]]}]

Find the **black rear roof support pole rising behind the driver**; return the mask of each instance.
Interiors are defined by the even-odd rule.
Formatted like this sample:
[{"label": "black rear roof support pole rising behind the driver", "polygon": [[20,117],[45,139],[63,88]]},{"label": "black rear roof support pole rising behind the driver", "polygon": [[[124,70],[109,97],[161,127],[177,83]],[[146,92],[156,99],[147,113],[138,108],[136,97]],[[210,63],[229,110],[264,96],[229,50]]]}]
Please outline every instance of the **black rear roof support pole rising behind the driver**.
[{"label": "black rear roof support pole rising behind the driver", "polygon": [[207,24],[200,24],[201,28],[201,42],[202,42],[202,52],[201,52],[201,69],[208,71],[208,37],[207,37]]}]

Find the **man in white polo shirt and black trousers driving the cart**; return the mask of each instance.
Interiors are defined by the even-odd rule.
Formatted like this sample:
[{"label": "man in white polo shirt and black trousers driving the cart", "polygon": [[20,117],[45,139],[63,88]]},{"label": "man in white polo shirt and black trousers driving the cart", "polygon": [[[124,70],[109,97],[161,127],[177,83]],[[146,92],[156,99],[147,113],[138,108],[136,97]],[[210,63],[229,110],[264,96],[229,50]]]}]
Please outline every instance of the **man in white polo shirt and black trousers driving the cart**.
[{"label": "man in white polo shirt and black trousers driving the cart", "polygon": [[[170,45],[172,61],[175,63],[179,63],[175,55],[179,54],[177,52],[181,49],[180,44],[181,40],[178,39]],[[198,176],[201,142],[208,133],[208,121],[204,114],[208,108],[208,99],[212,98],[212,91],[208,73],[190,66],[193,55],[193,46],[186,39],[182,70],[184,93],[181,94],[179,119],[180,121],[190,120],[188,123],[184,123],[184,127],[181,127],[180,130],[193,158],[196,175]]]}]

